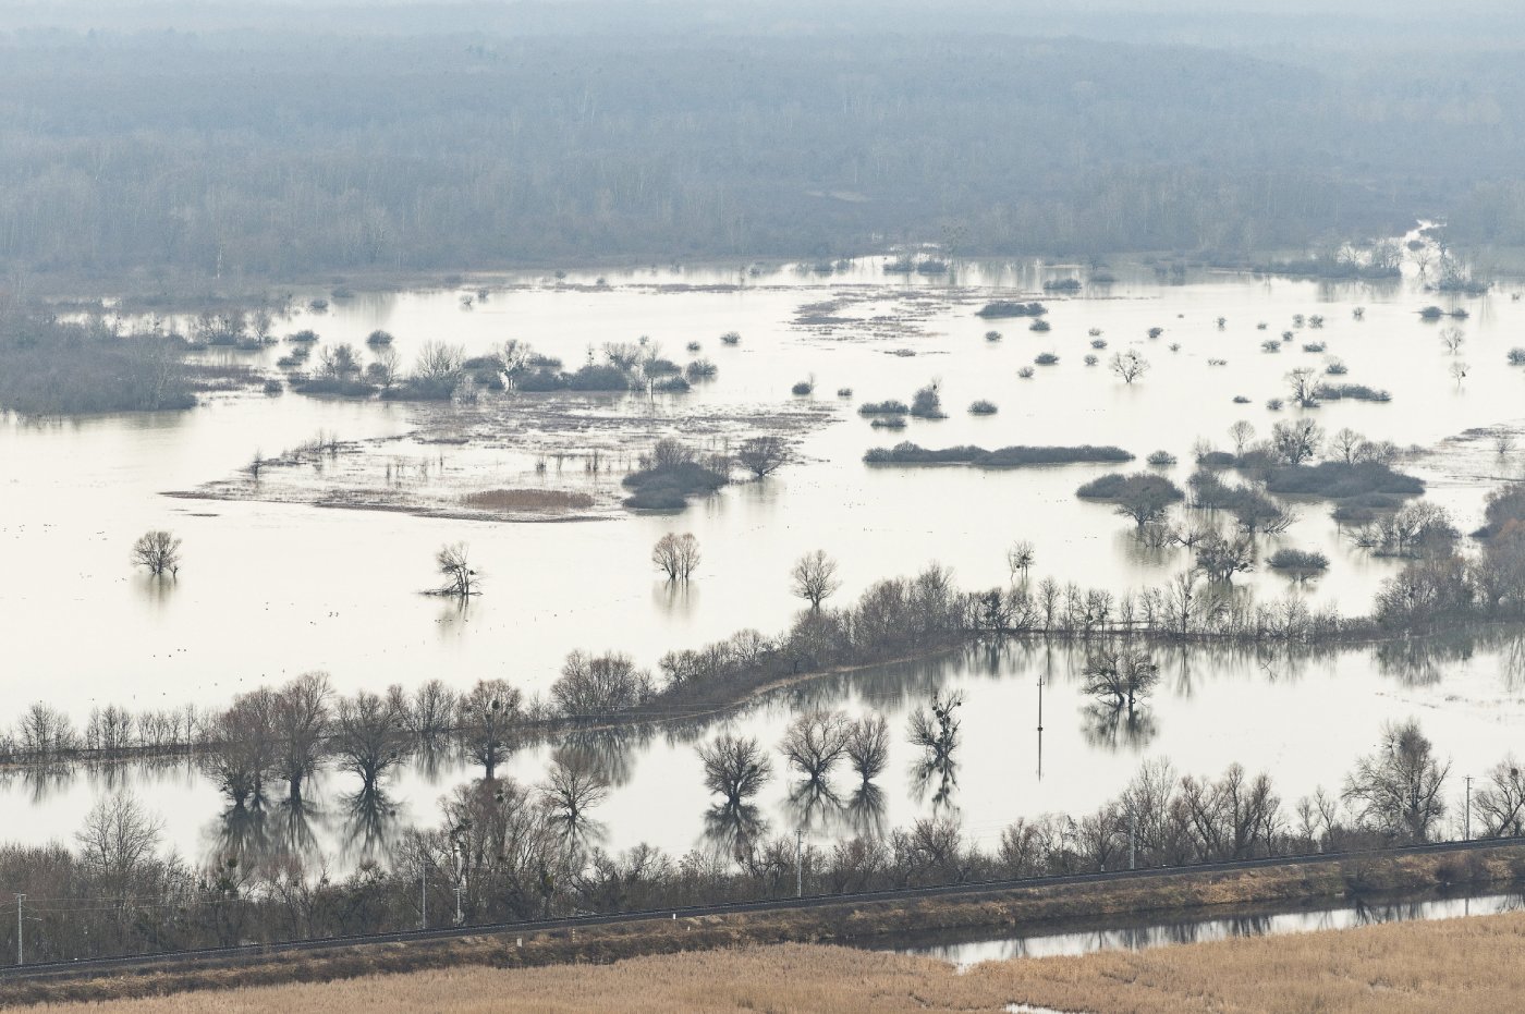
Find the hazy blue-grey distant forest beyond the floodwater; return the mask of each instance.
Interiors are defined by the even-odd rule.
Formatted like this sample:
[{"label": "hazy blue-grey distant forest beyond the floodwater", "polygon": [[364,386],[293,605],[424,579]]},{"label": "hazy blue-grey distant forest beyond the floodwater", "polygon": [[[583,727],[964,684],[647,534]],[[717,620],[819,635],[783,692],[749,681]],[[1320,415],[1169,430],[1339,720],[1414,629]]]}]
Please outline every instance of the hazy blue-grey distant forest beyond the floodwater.
[{"label": "hazy blue-grey distant forest beyond the floodwater", "polygon": [[0,139],[0,265],[72,279],[1525,244],[1511,55],[15,32]]}]

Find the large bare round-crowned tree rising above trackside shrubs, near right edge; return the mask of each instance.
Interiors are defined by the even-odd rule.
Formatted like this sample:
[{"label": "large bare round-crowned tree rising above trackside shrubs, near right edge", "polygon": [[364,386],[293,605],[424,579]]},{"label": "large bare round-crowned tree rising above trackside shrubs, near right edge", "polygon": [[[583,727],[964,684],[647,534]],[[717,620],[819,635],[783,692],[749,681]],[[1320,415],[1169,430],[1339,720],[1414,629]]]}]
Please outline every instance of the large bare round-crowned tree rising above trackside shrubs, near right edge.
[{"label": "large bare round-crowned tree rising above trackside shrubs, near right edge", "polygon": [[1377,752],[1360,758],[1345,778],[1345,801],[1357,820],[1409,842],[1429,840],[1446,816],[1443,790],[1450,764],[1435,759],[1430,741],[1412,718],[1388,723]]}]

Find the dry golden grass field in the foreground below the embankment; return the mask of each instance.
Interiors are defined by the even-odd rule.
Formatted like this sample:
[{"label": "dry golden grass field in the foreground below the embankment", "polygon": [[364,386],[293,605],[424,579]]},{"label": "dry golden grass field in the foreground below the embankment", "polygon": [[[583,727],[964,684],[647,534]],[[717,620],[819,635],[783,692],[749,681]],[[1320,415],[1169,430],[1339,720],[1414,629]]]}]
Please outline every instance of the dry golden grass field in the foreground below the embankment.
[{"label": "dry golden grass field in the foreground below the embankment", "polygon": [[1141,953],[1014,959],[967,974],[924,958],[782,944],[613,965],[454,968],[337,984],[50,1005],[29,1011],[122,1014],[288,1011],[1000,1011],[1020,1002],[1064,1011],[1525,1009],[1525,913],[1232,939]]}]

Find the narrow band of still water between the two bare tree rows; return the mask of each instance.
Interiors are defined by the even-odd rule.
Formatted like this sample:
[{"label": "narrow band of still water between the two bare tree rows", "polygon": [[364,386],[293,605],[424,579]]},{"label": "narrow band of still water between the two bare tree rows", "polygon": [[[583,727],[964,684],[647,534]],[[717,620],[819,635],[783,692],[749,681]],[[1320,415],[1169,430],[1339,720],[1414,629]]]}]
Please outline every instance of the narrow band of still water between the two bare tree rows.
[{"label": "narrow band of still water between the two bare tree rows", "polygon": [[[1084,648],[1006,643],[819,679],[721,718],[580,730],[561,743],[525,746],[500,770],[540,782],[557,750],[587,759],[612,785],[589,817],[598,843],[615,849],[645,842],[676,854],[729,854],[740,837],[793,836],[795,828],[827,846],[933,813],[956,816],[970,837],[991,846],[1019,816],[1093,810],[1150,758],[1194,775],[1217,775],[1238,761],[1269,772],[1290,807],[1319,785],[1337,790],[1385,721],[1420,717],[1455,772],[1487,770],[1516,750],[1525,721],[1519,640],[1498,631],[1412,640],[1401,653],[1162,648],[1156,657],[1164,671],[1156,695],[1132,720],[1124,714],[1100,732],[1098,711],[1081,688]],[[1432,668],[1446,679],[1415,679]],[[946,762],[929,764],[907,741],[907,720],[939,691],[964,694],[961,746]],[[772,749],[795,715],[817,708],[888,718],[891,756],[878,779],[862,785],[839,767],[811,784],[787,773],[775,753],[775,779],[747,807],[717,807],[695,753],[702,741],[730,730]],[[479,775],[450,750],[419,753],[384,778],[380,793],[366,796],[355,776],[322,770],[300,807],[267,801],[236,811],[185,761],[26,769],[0,775],[0,822],[14,839],[67,839],[95,799],[125,788],[163,814],[181,854],[210,857],[241,842],[342,869],[384,857],[409,826],[435,825],[441,796]]]}]

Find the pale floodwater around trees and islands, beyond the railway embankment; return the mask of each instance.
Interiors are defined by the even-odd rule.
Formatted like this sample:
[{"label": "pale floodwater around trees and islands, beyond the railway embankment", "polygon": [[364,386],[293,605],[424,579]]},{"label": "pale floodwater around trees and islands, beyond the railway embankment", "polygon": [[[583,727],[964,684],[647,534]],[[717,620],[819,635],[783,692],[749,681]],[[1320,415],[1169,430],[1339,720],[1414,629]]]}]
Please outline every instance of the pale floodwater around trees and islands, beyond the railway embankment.
[{"label": "pale floodwater around trees and islands, beyond the railway embankment", "polygon": [[[1432,448],[1406,468],[1429,480],[1427,496],[1450,506],[1464,531],[1476,526],[1484,493],[1520,474],[1525,451],[1501,457],[1487,439],[1450,439],[1479,427],[1522,427],[1525,371],[1505,366],[1505,352],[1525,331],[1525,303],[1507,291],[1444,297],[1412,279],[1368,285],[1244,276],[1164,285],[1151,271],[1118,268],[1115,284],[1045,299],[1052,323],[1046,334],[1028,331],[1025,320],[974,316],[991,297],[1040,299],[1042,281],[1055,273],[1064,271],[971,265],[952,279],[907,279],[860,262],[828,276],[660,268],[608,273],[605,285],[592,274],[560,284],[514,278],[482,282],[490,296],[470,308],[461,299],[465,290],[361,293],[322,314],[300,311],[278,329],[311,326],[325,343],[358,345],[384,328],[396,335],[404,363],[429,340],[476,354],[514,337],[569,367],[590,345],[650,335],[679,363],[691,358],[685,346],[698,342],[698,355],[718,366],[717,380],[688,395],[557,395],[560,418],[584,421],[558,432],[544,432],[537,416],[537,406],[549,401],[543,395],[488,395],[474,407],[439,407],[230,393],[185,413],[5,418],[0,642],[11,694],[0,721],[14,720],[32,700],[66,708],[81,724],[92,706],[107,703],[218,706],[307,669],[328,671],[343,692],[433,677],[462,689],[505,677],[526,692],[544,692],[572,650],[627,651],[654,666],[668,650],[744,627],[784,628],[799,607],[787,570],[816,547],[840,561],[842,599],[929,561],[953,567],[962,587],[1005,584],[1005,549],[1017,538],[1037,547],[1034,581],[1054,576],[1113,592],[1159,584],[1190,564],[1185,550],[1141,550],[1130,521],[1074,496],[1075,486],[1110,468],[883,468],[863,465],[862,454],[901,439],[991,448],[1119,444],[1139,456],[1135,468],[1153,450],[1173,453],[1182,464],[1167,471],[1183,482],[1199,438],[1228,447],[1237,419],[1267,435],[1276,419],[1296,415],[1273,413],[1264,403],[1286,395],[1287,371],[1322,366],[1327,355],[1348,364],[1340,380],[1385,387],[1392,401],[1330,403],[1316,410],[1319,422],[1328,432],[1350,425]],[[297,302],[320,294],[299,293]],[[1467,334],[1458,357],[1443,349],[1438,326],[1415,313],[1432,302],[1470,313],[1456,322]],[[1298,329],[1278,354],[1263,352],[1261,342],[1293,329],[1293,314],[1322,314],[1325,323]],[[1156,340],[1147,337],[1151,326],[1164,328]],[[1002,340],[985,340],[993,328]],[[1083,363],[1092,354],[1092,329],[1109,342],[1095,352],[1098,366]],[[723,346],[718,335],[726,331],[738,331],[741,343]],[[1327,343],[1327,354],[1301,351],[1315,340]],[[284,348],[206,355],[270,366]],[[1125,348],[1138,348],[1153,364],[1132,386],[1106,369],[1106,358]],[[1019,378],[1019,367],[1045,351],[1057,352],[1058,364]],[[1453,358],[1472,363],[1461,384],[1449,372]],[[790,387],[805,378],[814,380],[814,393],[793,396]],[[854,410],[863,401],[909,401],[932,380],[941,383],[946,419],[910,421],[886,433],[871,430]],[[839,396],[842,387],[852,395]],[[1235,393],[1249,404],[1234,404]],[[997,415],[968,415],[976,398],[994,401]],[[589,476],[578,459],[595,448],[605,460],[630,459],[666,435],[720,447],[769,428],[795,441],[795,464],[679,515],[610,506],[618,474]],[[319,432],[355,442],[355,453],[325,471],[267,471],[262,482],[278,493],[242,476],[256,450],[274,456]],[[473,442],[433,442],[441,433],[467,433]],[[563,454],[564,468],[538,471],[547,451]],[[596,520],[578,523],[500,523],[300,502],[325,499],[334,485],[349,493],[380,488],[383,470],[398,464],[412,474],[429,464],[435,496],[592,489],[601,508]],[[210,499],[163,496],[185,491]],[[1260,570],[1237,581],[1261,596],[1302,595],[1366,611],[1398,564],[1351,546],[1327,505],[1299,511],[1301,520],[1286,535],[1263,540],[1261,552],[1319,549],[1330,557],[1330,573],[1299,589]],[[149,528],[171,528],[185,540],[174,582],[130,567],[128,546]],[[651,544],[668,531],[691,531],[702,544],[703,563],[686,589],[663,584],[650,563]],[[483,595],[465,610],[418,593],[433,581],[435,550],[448,541],[467,541],[486,575]],[[978,839],[991,840],[1019,814],[1100,804],[1145,756],[1168,756],[1199,773],[1241,761],[1270,770],[1289,801],[1319,784],[1337,787],[1386,718],[1420,717],[1455,770],[1481,772],[1508,752],[1508,730],[1525,711],[1517,653],[1508,639],[1494,639],[1429,662],[1379,659],[1366,650],[1301,662],[1197,654],[1167,662],[1165,683],[1139,727],[1096,729],[1083,714],[1075,659],[1013,650],[828,680],[770,698],[734,721],[773,743],[802,700],[822,698],[849,712],[886,711],[900,738],[904,715],[933,688],[961,688],[968,703],[956,785],[941,794],[938,784],[918,787],[906,773],[909,747],[897,743],[880,819],[901,825],[947,804]],[[1043,675],[1051,686],[1040,779],[1035,708]],[[708,799],[692,736],[712,732],[660,732],[610,750],[616,790],[599,813],[610,845],[651,840],[682,851],[703,842]],[[546,758],[547,749],[525,750],[512,773],[537,779]],[[395,829],[433,820],[438,796],[468,773],[450,758],[410,769],[390,787],[395,814],[380,823]],[[12,836],[66,837],[96,794],[124,781],[165,814],[177,848],[212,848],[217,793],[177,769],[78,773],[63,784],[14,776],[0,791],[0,817]],[[343,776],[331,776],[319,788],[317,813],[288,820],[299,825],[293,837],[336,865],[363,851],[378,823],[346,814],[346,790]],[[851,796],[845,785],[842,793]],[[817,801],[804,813],[781,778],[759,810],[775,831],[804,822],[825,843],[872,808]]]}]

